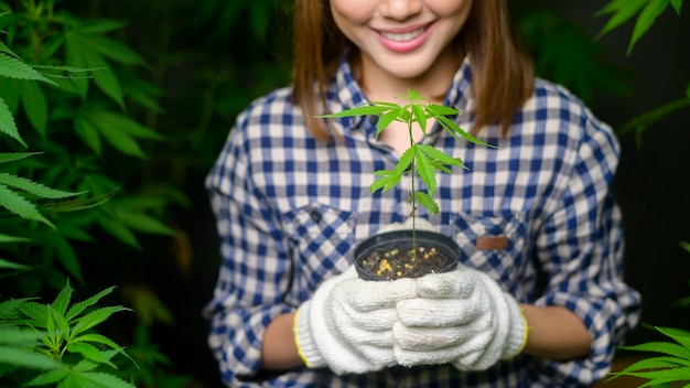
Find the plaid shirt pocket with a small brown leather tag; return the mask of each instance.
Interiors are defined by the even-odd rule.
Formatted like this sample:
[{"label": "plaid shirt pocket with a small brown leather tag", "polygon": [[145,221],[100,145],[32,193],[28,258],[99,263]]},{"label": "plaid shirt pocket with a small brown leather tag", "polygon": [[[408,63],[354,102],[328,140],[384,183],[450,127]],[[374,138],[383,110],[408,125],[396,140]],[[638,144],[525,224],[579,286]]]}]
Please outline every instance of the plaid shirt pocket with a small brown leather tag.
[{"label": "plaid shirt pocket with a small brown leather tag", "polygon": [[500,216],[455,214],[451,230],[461,248],[461,262],[511,289],[519,278],[527,225],[522,213]]}]

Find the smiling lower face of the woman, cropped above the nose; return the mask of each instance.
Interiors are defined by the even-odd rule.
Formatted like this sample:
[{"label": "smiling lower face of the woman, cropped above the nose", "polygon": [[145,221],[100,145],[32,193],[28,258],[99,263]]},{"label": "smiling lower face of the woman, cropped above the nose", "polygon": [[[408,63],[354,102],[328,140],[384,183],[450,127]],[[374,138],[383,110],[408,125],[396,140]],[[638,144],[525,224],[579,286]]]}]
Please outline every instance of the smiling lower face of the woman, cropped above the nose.
[{"label": "smiling lower face of the woman, cropped above the nose", "polygon": [[395,78],[422,77],[439,62],[456,62],[451,44],[472,8],[472,0],[330,2],[335,23],[362,52],[365,76]]}]

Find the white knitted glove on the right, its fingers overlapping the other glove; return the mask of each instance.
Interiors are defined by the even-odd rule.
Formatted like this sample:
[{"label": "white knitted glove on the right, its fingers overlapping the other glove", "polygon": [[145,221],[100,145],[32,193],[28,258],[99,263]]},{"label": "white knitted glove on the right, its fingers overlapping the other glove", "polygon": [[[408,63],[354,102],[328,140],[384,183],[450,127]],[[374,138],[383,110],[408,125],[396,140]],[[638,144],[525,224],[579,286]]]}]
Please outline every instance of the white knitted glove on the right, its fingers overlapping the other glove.
[{"label": "white knitted glove on the right, its fingers overlapping the other glove", "polygon": [[513,297],[486,274],[460,266],[417,280],[420,298],[397,305],[393,326],[400,365],[452,363],[484,370],[521,352],[527,323]]}]

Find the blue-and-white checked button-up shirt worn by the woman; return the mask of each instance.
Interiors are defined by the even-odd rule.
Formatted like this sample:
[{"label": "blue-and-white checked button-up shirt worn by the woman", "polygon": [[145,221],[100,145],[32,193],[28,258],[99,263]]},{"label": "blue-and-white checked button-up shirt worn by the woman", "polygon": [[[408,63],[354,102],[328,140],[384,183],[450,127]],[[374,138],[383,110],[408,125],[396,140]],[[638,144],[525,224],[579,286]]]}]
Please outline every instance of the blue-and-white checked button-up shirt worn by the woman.
[{"label": "blue-and-white checked button-up shirt worn by the woman", "polygon": [[[457,71],[445,105],[472,112],[471,65]],[[321,282],[351,266],[355,245],[403,222],[409,182],[369,193],[375,170],[397,152],[376,140],[370,118],[333,121],[333,143],[315,140],[291,89],[254,101],[238,118],[206,180],[223,256],[209,346],[223,380],[237,387],[576,387],[610,370],[614,348],[639,317],[639,294],[622,280],[621,213],[610,191],[618,144],[611,128],[558,85],[537,79],[507,137],[485,128],[496,149],[457,142],[438,126],[425,141],[461,158],[466,171],[439,176],[440,213],[420,215],[454,236],[462,260],[495,279],[518,302],[560,305],[592,336],[586,358],[519,355],[482,373],[452,366],[396,367],[336,376],[327,369],[260,371],[266,326],[294,311]],[[366,101],[344,61],[327,89],[330,111]],[[472,115],[455,120],[472,127]],[[500,250],[477,248],[505,236]]]}]

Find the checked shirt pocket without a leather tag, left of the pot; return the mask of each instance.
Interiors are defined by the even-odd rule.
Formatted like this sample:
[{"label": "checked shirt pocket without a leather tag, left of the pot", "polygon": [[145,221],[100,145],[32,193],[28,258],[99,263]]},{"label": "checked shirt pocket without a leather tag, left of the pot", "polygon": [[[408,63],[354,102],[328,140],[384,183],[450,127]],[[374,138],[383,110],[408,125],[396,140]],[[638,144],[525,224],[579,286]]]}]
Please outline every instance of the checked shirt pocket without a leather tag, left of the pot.
[{"label": "checked shirt pocket without a leather tag, left of the pot", "polygon": [[325,279],[352,265],[356,216],[327,205],[311,203],[284,214],[284,230],[294,268],[293,285],[306,300]]}]

